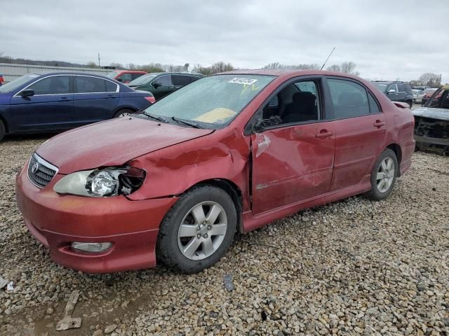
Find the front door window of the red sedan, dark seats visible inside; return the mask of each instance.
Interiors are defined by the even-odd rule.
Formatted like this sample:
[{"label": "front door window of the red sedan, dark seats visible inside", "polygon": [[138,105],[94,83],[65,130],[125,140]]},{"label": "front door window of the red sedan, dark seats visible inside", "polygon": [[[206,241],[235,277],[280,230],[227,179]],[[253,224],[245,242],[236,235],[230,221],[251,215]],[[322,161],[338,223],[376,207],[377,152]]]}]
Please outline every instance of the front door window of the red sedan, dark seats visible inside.
[{"label": "front door window of the red sedan, dark seats visible inside", "polygon": [[265,127],[320,120],[319,81],[298,80],[277,92],[262,109]]}]

